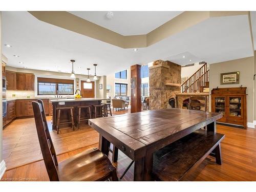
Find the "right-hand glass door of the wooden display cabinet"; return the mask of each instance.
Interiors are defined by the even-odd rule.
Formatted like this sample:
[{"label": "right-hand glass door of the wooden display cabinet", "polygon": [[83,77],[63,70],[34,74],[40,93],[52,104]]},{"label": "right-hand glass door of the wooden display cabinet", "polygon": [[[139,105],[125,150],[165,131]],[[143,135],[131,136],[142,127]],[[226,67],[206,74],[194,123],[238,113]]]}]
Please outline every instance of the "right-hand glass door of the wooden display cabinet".
[{"label": "right-hand glass door of the wooden display cabinet", "polygon": [[243,106],[242,106],[242,97],[241,96],[228,96],[228,116],[230,118],[242,118],[243,116]]}]

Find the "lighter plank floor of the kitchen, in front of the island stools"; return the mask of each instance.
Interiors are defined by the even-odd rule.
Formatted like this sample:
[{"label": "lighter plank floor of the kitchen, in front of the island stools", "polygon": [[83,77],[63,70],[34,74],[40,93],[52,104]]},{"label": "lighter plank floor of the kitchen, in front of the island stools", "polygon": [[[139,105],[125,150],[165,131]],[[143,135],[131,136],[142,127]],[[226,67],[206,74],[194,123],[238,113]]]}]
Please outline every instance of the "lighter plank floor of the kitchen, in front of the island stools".
[{"label": "lighter plank floor of the kitchen, in front of the island stools", "polygon": [[[56,134],[51,117],[47,120],[57,155],[98,143],[99,134],[88,125],[75,131],[63,128]],[[34,118],[16,119],[3,130],[3,157],[7,170],[42,160]]]}]

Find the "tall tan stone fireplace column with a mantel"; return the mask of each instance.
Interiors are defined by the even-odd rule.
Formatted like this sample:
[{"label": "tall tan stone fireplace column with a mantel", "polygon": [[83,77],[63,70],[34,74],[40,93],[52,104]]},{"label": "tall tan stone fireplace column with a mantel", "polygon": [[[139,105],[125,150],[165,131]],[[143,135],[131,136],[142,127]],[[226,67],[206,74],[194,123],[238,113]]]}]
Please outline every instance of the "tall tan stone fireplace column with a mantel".
[{"label": "tall tan stone fireplace column with a mantel", "polygon": [[177,108],[176,94],[180,93],[181,66],[170,61],[156,60],[149,70],[150,109]]}]

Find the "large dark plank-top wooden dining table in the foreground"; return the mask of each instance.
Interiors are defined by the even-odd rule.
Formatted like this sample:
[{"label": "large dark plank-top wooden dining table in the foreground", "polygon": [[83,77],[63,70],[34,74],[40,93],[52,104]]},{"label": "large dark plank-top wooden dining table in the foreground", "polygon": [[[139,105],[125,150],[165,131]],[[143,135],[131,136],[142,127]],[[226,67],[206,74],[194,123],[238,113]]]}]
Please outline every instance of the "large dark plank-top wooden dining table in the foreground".
[{"label": "large dark plank-top wooden dining table in the foreground", "polygon": [[99,150],[108,155],[112,143],[134,162],[134,181],[152,180],[153,153],[196,130],[216,132],[221,113],[164,109],[90,119],[99,133]]}]

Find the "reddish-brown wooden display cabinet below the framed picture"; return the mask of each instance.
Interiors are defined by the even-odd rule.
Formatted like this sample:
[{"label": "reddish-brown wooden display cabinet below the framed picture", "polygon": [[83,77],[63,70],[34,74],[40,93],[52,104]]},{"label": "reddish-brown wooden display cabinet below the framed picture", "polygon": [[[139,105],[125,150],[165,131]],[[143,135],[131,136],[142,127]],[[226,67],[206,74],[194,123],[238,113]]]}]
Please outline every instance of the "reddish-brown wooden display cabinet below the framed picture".
[{"label": "reddish-brown wooden display cabinet below the framed picture", "polygon": [[246,88],[220,88],[211,91],[211,111],[221,112],[218,122],[247,128]]}]

